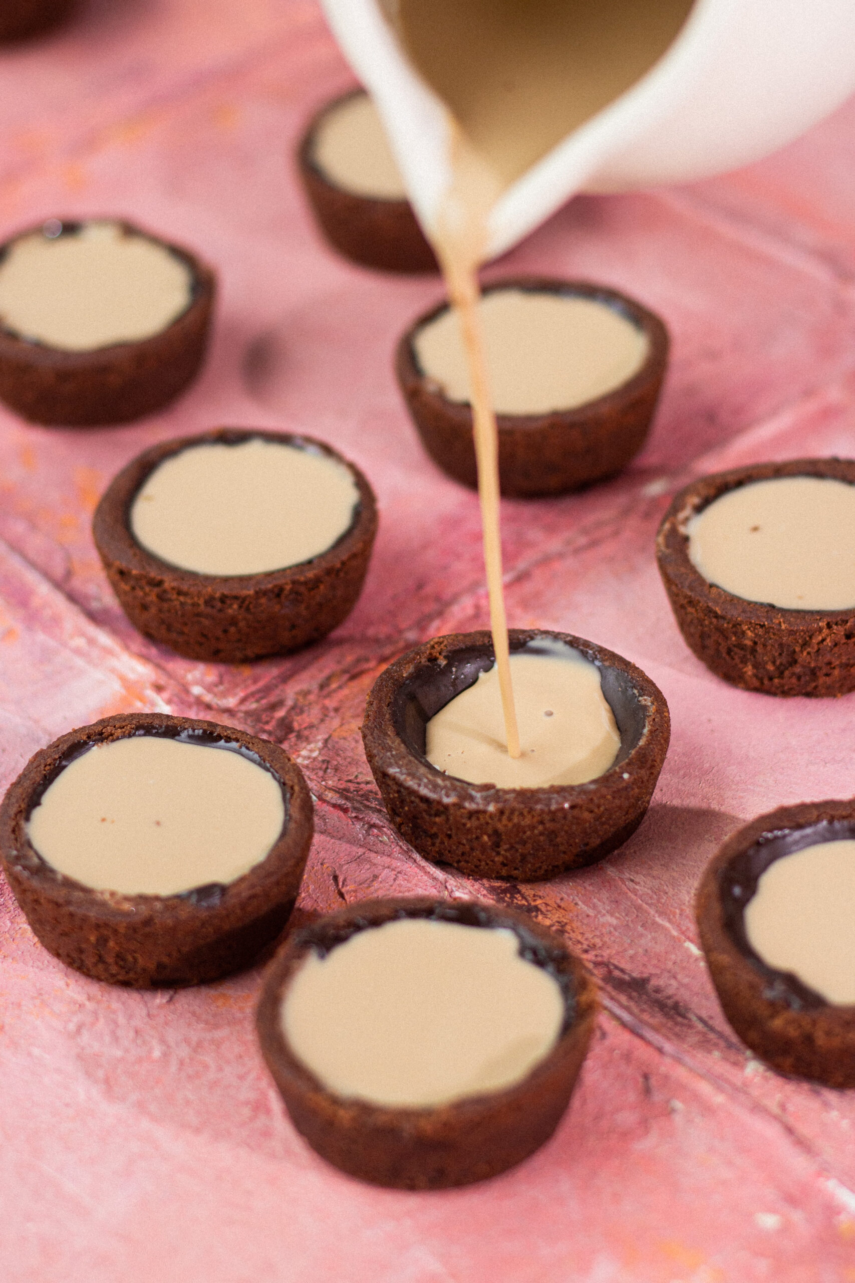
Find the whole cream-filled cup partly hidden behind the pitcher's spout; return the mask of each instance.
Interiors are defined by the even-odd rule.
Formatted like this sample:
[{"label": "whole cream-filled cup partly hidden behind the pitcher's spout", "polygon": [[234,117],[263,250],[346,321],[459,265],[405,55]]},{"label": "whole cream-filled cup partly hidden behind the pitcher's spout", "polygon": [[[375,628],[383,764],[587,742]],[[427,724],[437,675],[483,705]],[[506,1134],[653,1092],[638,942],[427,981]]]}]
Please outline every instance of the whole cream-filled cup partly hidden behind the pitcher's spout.
[{"label": "whole cream-filled cup partly hidden behind the pitcher's spout", "polygon": [[318,112],[300,141],[297,164],[314,216],[340,254],[385,272],[438,271],[364,90]]}]

